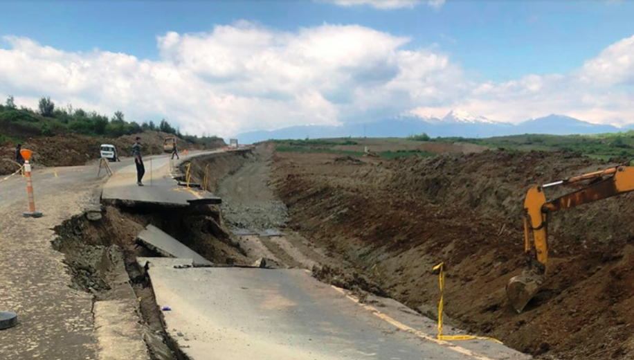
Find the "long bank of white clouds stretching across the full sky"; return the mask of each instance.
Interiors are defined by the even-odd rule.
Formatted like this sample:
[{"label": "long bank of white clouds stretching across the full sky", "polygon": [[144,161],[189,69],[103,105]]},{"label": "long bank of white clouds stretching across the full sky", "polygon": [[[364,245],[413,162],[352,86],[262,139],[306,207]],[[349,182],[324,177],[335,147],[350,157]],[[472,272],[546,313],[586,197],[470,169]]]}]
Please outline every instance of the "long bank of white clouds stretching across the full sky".
[{"label": "long bank of white clouds stretching across the full sky", "polygon": [[442,117],[453,108],[519,122],[567,114],[634,123],[634,36],[568,74],[476,82],[437,48],[363,26],[324,24],[284,32],[246,21],[210,33],[165,33],[161,57],[67,52],[4,37],[0,100],[57,105],[139,122],[165,117],[181,131],[232,136],[302,124],[370,122],[399,114]]}]

